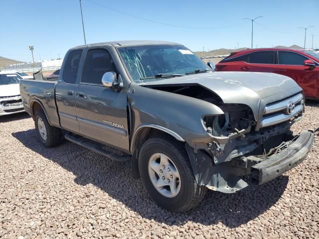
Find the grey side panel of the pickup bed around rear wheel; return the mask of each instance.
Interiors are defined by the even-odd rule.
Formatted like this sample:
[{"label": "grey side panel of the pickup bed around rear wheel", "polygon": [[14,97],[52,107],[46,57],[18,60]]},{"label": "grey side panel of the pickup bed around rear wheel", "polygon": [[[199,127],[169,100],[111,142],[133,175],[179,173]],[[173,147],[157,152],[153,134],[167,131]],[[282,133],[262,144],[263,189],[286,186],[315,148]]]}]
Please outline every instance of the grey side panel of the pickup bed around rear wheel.
[{"label": "grey side panel of the pickup bed around rear wheel", "polygon": [[49,123],[60,127],[59,116],[55,103],[55,85],[57,81],[21,80],[20,94],[25,111],[32,116],[32,106],[39,103]]}]

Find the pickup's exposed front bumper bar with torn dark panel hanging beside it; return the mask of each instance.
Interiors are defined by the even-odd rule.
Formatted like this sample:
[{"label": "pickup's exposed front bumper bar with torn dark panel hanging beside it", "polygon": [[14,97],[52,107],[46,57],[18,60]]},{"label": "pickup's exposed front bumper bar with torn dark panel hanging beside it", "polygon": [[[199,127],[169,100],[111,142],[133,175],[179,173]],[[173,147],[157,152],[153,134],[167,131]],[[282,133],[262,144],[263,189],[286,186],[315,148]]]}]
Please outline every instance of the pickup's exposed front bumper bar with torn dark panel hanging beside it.
[{"label": "pickup's exposed front bumper bar with torn dark panel hanging beside it", "polygon": [[300,164],[314,141],[314,131],[302,131],[287,146],[270,156],[241,156],[215,163],[205,150],[186,144],[195,179],[199,185],[223,193],[235,193],[250,184],[266,183]]}]

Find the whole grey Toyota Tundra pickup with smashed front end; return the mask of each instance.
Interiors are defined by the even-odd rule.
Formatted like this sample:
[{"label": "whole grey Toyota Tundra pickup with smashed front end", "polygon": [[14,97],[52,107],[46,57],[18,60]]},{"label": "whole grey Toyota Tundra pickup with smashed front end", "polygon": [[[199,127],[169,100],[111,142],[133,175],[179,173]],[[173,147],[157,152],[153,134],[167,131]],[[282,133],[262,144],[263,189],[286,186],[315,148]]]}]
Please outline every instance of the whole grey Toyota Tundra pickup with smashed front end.
[{"label": "whole grey Toyota Tundra pickup with smashed front end", "polygon": [[305,103],[295,81],[213,68],[177,43],[88,44],[67,52],[57,81],[21,80],[20,92],[46,147],[65,137],[130,161],[161,207],[183,212],[207,189],[234,193],[280,176],[314,140],[290,130]]}]

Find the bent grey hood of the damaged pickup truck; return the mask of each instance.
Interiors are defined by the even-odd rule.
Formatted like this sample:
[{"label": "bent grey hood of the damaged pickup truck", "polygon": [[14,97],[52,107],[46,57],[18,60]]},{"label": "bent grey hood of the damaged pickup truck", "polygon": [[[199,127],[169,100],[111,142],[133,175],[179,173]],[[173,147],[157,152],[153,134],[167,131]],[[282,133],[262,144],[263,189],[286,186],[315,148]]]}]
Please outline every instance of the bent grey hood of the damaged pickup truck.
[{"label": "bent grey hood of the damaged pickup truck", "polygon": [[[287,76],[264,72],[208,72],[145,83],[146,86],[201,85],[224,103],[248,105],[258,119],[261,100],[270,103],[302,91]],[[280,94],[281,93],[281,94]],[[277,95],[277,96],[275,96]],[[267,99],[266,99],[267,98]]]}]

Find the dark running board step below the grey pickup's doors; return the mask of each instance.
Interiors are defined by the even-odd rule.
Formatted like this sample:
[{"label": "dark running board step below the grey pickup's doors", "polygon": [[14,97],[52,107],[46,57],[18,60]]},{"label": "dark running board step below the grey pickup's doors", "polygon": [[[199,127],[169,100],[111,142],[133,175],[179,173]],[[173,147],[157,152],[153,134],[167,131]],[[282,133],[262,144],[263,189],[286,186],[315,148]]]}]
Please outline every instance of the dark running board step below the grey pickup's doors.
[{"label": "dark running board step below the grey pickup's doors", "polygon": [[[100,145],[98,145],[99,143],[96,143],[96,142],[94,142],[90,139],[87,139],[85,137],[82,137],[80,135],[76,135],[76,134],[67,132],[64,135],[64,137],[65,137],[65,139],[67,139],[73,143],[76,143],[82,147],[90,149],[94,152],[97,152],[99,154],[102,154],[110,159],[113,159],[113,160],[116,160],[119,162],[128,162],[128,161],[131,161],[131,159],[132,159],[132,155],[118,155],[114,152],[103,149]],[[92,141],[92,142],[90,142],[90,141]],[[93,142],[96,144],[94,144]]]}]

